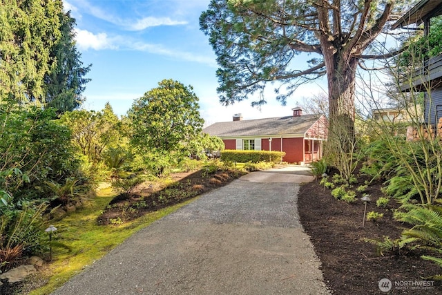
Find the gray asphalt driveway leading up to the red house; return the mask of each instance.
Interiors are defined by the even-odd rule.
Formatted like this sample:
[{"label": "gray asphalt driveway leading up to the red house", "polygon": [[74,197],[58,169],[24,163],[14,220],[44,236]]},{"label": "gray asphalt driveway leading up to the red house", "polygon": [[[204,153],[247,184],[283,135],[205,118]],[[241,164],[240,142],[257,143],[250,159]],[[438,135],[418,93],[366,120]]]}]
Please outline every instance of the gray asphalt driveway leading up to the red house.
[{"label": "gray asphalt driveway leading up to the red house", "polygon": [[244,175],[154,222],[53,294],[328,294],[296,207],[307,169]]}]

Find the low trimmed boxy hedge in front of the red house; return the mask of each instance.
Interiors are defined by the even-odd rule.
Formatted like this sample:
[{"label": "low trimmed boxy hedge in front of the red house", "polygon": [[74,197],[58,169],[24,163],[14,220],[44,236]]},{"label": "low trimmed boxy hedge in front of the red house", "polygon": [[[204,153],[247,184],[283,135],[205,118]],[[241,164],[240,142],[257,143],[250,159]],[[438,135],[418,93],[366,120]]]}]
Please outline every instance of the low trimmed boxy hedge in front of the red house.
[{"label": "low trimmed boxy hedge in front of the red house", "polygon": [[240,151],[227,149],[221,152],[221,160],[224,162],[259,163],[281,162],[285,156],[283,151]]}]

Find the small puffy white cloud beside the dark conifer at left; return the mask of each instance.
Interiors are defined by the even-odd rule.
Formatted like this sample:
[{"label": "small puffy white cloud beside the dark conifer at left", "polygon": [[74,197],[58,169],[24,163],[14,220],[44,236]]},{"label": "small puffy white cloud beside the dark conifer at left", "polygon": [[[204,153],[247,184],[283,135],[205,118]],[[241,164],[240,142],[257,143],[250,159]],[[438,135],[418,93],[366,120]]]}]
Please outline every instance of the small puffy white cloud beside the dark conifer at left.
[{"label": "small puffy white cloud beside the dark conifer at left", "polygon": [[88,50],[89,48],[95,50],[103,49],[117,49],[118,46],[115,44],[119,38],[110,38],[104,32],[94,34],[88,30],[75,29],[77,47],[79,50]]}]

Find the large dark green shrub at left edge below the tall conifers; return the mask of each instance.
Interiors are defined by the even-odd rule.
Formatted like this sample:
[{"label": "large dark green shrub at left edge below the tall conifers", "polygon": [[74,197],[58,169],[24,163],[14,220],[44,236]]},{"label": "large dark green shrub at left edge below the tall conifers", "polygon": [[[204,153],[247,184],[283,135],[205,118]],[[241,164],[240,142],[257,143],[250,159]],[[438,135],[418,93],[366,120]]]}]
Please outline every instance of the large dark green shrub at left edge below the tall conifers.
[{"label": "large dark green shrub at left edge below the tall conifers", "polygon": [[6,186],[0,183],[0,187],[7,187],[12,204],[19,198],[44,199],[45,193],[39,189],[44,182],[64,182],[79,173],[70,131],[55,120],[57,115],[51,109],[11,108],[0,105],[0,166],[23,173],[10,175]]}]

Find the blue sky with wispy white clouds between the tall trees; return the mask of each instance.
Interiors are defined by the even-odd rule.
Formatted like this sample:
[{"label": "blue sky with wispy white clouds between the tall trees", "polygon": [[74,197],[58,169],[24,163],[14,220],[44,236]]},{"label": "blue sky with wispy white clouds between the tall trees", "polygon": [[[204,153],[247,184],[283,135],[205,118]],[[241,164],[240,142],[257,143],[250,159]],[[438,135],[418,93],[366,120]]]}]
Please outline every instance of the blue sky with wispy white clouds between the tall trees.
[{"label": "blue sky with wispy white clouds between the tall trees", "polygon": [[93,64],[87,77],[84,108],[101,110],[110,102],[124,115],[134,99],[155,88],[162,79],[175,79],[200,99],[200,113],[207,124],[232,120],[290,115],[305,97],[324,93],[324,82],[298,88],[280,106],[273,91],[267,104],[252,108],[253,99],[233,106],[219,103],[215,70],[218,67],[209,39],[198,19],[210,0],[64,0],[77,20],[77,49],[85,65]]}]

